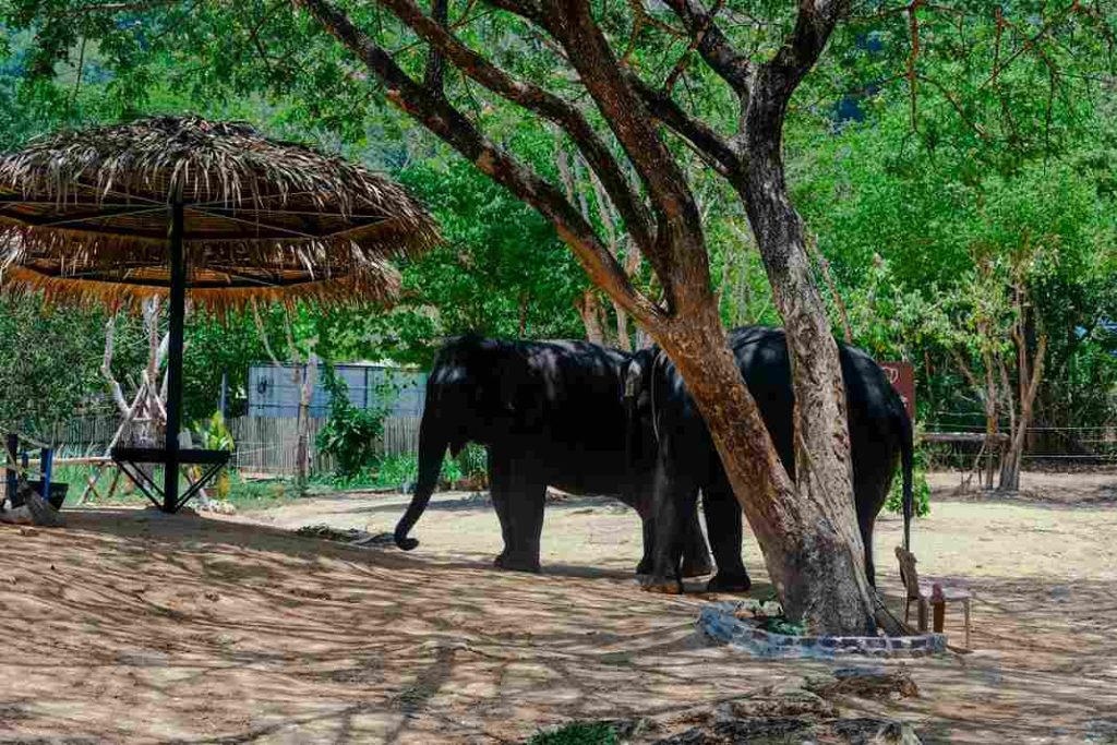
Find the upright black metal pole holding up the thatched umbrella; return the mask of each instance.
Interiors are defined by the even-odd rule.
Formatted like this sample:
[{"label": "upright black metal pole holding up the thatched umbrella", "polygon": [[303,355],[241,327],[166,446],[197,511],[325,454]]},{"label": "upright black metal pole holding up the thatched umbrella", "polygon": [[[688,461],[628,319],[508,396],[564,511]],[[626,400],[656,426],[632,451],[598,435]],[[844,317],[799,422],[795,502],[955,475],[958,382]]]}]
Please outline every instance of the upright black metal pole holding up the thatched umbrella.
[{"label": "upright black metal pole holding up the thatched umbrella", "polygon": [[187,260],[182,249],[182,200],[171,204],[171,337],[166,352],[166,472],[163,512],[179,505],[179,431],[182,429],[182,344],[187,315]]}]

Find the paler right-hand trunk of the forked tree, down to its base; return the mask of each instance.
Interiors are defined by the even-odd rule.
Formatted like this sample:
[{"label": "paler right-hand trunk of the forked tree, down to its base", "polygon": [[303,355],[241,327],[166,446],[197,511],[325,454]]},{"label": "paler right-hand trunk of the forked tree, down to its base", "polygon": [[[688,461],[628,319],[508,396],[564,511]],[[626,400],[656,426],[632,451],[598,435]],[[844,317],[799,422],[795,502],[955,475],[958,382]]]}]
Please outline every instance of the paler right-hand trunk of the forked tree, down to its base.
[{"label": "paler right-hand trunk of the forked tree, down to its base", "polygon": [[[753,452],[723,449],[723,461],[789,613],[819,632],[871,633],[876,609],[853,503],[838,344],[811,277],[802,219],[784,182],[781,134],[758,131],[765,124],[763,117],[752,124],[747,130],[751,168],[735,185],[787,334],[795,393],[795,483],[781,487],[776,481],[775,493],[765,499],[770,509],[758,510],[747,498],[750,484],[757,483],[750,472],[751,461],[763,458],[773,472],[783,470],[771,440],[763,453],[755,452],[758,443],[751,446]],[[714,403],[718,391],[696,393],[696,401],[699,395],[709,395]],[[715,440],[727,441],[738,431],[735,421],[742,414],[718,421],[718,409],[713,407],[706,414],[707,422]]]}]

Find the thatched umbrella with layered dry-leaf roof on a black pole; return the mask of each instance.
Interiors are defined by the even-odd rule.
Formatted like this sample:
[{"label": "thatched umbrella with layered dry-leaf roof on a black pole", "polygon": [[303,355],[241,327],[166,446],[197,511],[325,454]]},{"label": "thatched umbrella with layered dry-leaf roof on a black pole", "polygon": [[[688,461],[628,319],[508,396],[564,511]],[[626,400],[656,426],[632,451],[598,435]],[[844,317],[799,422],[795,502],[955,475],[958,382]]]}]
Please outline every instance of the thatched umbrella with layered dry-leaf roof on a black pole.
[{"label": "thatched umbrella with layered dry-leaf roof on a black pole", "polygon": [[218,314],[382,302],[399,288],[389,259],[437,240],[399,185],[245,124],[146,118],[0,155],[0,290],[111,307],[170,296],[169,510],[181,506],[185,298]]}]

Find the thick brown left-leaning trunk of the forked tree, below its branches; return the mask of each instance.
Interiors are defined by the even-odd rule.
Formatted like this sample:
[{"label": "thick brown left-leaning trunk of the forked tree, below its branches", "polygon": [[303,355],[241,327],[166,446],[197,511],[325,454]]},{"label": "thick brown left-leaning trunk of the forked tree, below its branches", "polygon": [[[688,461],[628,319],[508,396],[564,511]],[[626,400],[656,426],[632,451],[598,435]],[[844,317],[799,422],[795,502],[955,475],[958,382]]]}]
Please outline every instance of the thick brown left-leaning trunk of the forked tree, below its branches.
[{"label": "thick brown left-leaning trunk of the forked tree, below its branches", "polygon": [[[848,471],[842,467],[831,476],[798,447],[798,479],[791,481],[743,385],[724,332],[705,321],[695,318],[661,343],[722,455],[785,612],[817,633],[872,633],[873,603]],[[832,337],[828,340],[833,344]],[[800,365],[799,382],[801,371]],[[802,446],[806,438],[802,427],[796,429]]]}]

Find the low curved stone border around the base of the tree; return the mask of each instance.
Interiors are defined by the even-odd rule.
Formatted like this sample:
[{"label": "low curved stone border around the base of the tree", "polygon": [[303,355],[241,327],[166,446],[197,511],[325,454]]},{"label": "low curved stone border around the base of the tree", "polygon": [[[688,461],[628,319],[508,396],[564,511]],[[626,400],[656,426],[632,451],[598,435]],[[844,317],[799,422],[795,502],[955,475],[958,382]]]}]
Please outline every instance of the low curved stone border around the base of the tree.
[{"label": "low curved stone border around the base of the tree", "polygon": [[760,628],[752,619],[739,618],[737,613],[746,608],[745,603],[709,603],[703,606],[695,625],[714,641],[756,657],[916,658],[946,651],[946,636],[942,633],[915,637],[796,637],[775,633]]}]

